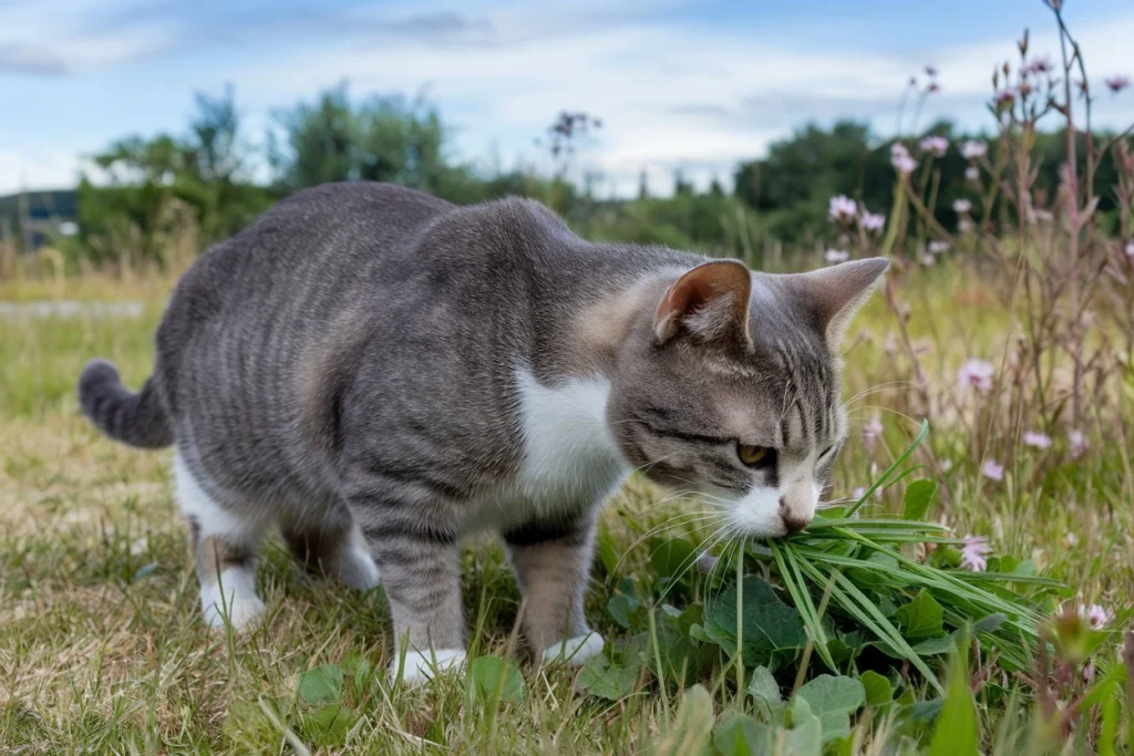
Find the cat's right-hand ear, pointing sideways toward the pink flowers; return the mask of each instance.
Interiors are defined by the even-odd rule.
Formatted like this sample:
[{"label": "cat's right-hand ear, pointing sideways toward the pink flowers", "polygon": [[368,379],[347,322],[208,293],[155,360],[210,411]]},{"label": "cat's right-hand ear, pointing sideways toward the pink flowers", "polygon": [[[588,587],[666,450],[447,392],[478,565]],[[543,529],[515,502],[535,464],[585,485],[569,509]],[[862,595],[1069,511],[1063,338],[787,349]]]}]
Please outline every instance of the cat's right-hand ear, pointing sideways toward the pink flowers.
[{"label": "cat's right-hand ear, pointing sideways toward the pink flowers", "polygon": [[850,320],[858,312],[882,273],[890,266],[885,257],[854,260],[798,277],[797,291],[814,314],[831,349],[843,342]]}]

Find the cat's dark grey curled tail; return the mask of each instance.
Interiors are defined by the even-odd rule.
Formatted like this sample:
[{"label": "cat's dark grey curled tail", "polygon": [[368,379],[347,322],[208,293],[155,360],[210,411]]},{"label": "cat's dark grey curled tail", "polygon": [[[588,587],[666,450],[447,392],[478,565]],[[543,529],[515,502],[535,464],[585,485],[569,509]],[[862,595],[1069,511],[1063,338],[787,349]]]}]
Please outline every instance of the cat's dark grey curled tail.
[{"label": "cat's dark grey curled tail", "polygon": [[174,443],[174,427],[153,377],[137,393],[122,385],[118,368],[92,359],[78,376],[78,404],[94,426],[116,441],[142,449]]}]

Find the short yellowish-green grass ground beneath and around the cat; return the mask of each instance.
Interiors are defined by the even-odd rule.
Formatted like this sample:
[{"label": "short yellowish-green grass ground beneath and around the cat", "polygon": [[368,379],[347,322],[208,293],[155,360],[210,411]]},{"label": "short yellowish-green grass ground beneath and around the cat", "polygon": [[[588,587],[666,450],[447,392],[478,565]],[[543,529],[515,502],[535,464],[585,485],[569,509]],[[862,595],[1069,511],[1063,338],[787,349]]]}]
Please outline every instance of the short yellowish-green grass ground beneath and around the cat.
[{"label": "short yellowish-green grass ground beneath and around the cat", "polygon": [[[375,672],[392,653],[380,592],[361,596],[307,578],[280,547],[269,549],[260,568],[270,619],[247,637],[209,635],[171,499],[169,452],[101,438],[78,415],[73,388],[93,356],[117,362],[127,383],[139,384],[171,286],[161,277],[0,282],[2,301],[142,305],[136,317],[0,318],[0,754],[696,754],[714,753],[713,728],[729,712],[755,711],[759,700],[736,689],[723,660],[700,678],[708,695],[683,694],[672,681],[659,686],[643,670],[625,695],[604,697],[593,685],[576,690],[578,673],[513,662],[500,662],[500,676],[492,662],[471,681],[391,688]],[[854,397],[855,430],[832,498],[869,484],[916,433],[913,415],[926,414],[933,431],[915,459],[925,466],[920,475],[942,485],[933,518],[959,536],[988,536],[997,553],[1031,560],[1072,586],[1068,600],[1099,604],[1111,614],[1109,628],[1125,627],[1134,601],[1131,381],[1125,396],[1097,397],[1085,450],[1072,453],[1056,433],[1051,448],[1030,447],[1022,441],[1026,423],[998,424],[1018,413],[968,415],[955,397],[964,359],[982,356],[1000,367],[1015,338],[978,275],[915,272],[907,286],[909,339],[924,356],[932,401],[917,406],[908,360],[888,349],[895,318],[873,303],[852,329],[846,397]],[[874,419],[880,434],[864,435]],[[981,475],[993,457],[1006,468],[1000,481]],[[904,485],[878,507],[898,508]],[[658,500],[659,492],[632,482],[607,509],[619,561],[596,564],[589,617],[609,639],[633,632],[608,609],[611,597],[657,563],[657,540],[642,536],[682,510]],[[710,532],[677,525],[659,535],[699,544]],[[474,652],[514,657],[518,593],[500,550],[471,546],[465,568]],[[1101,652],[1108,660],[1112,640]],[[789,694],[806,674],[777,681]],[[1040,753],[1033,746],[1043,716],[1027,687],[1006,672],[987,682],[1002,695],[976,686],[982,750]],[[931,691],[912,681],[904,695],[900,705],[862,710],[850,736],[828,748],[912,753],[928,744],[930,724],[909,721],[911,707]],[[1059,742],[1070,751],[1093,748],[1099,728],[1098,719],[1084,719]],[[779,742],[792,750],[789,740]]]}]

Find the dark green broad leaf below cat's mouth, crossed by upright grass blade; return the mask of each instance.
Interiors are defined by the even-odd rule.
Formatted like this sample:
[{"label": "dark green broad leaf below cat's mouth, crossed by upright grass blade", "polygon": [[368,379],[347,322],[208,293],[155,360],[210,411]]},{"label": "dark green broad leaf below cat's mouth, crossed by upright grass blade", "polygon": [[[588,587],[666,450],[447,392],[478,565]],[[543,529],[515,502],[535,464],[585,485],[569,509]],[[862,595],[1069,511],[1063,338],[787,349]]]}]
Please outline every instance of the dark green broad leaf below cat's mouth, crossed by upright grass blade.
[{"label": "dark green broad leaf below cat's mouth, crossed by upright grass blade", "polygon": [[[745,664],[771,670],[794,659],[807,644],[803,618],[788,606],[765,581],[746,577],[741,591],[743,623],[742,653]],[[737,643],[737,589],[722,592],[705,611],[704,634],[725,651],[734,653]]]}]

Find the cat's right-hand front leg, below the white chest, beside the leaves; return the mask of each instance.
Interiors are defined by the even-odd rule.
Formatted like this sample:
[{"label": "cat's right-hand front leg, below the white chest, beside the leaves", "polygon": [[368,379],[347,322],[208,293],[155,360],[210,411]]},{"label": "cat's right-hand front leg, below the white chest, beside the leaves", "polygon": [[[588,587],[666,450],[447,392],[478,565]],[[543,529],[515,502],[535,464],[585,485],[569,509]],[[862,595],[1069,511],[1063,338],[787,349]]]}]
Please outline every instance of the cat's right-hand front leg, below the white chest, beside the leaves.
[{"label": "cat's right-hand front leg, below the white chest, beside the leaves", "polygon": [[583,512],[502,534],[524,595],[524,636],[538,661],[581,665],[602,651],[602,636],[583,615],[594,527],[594,513]]}]

